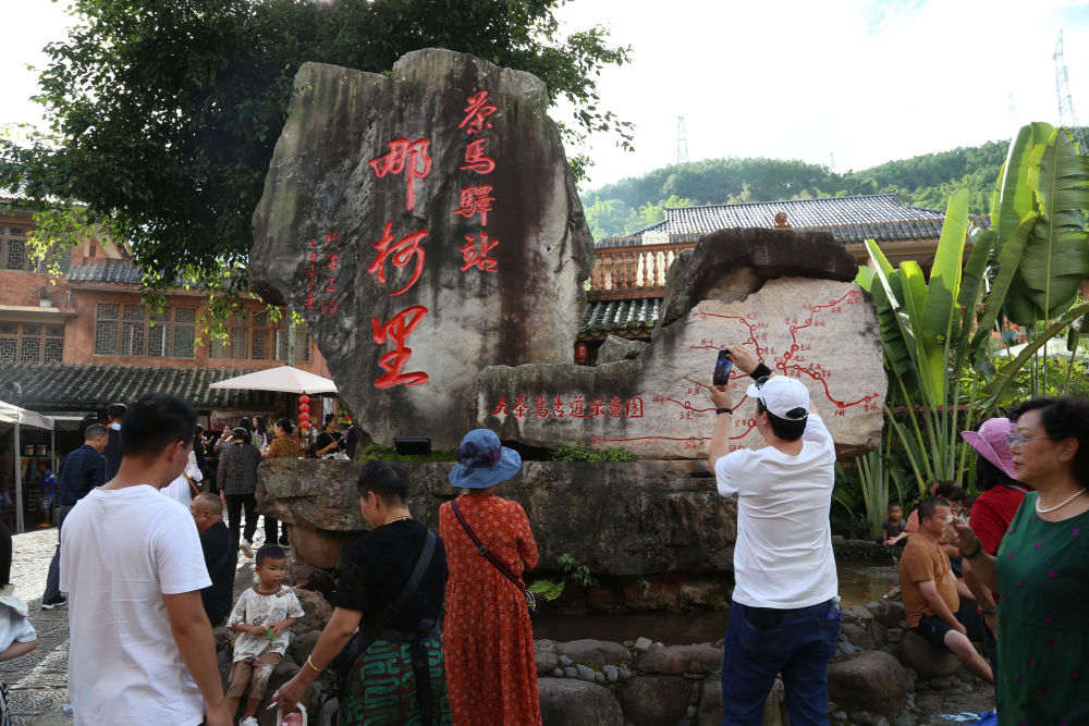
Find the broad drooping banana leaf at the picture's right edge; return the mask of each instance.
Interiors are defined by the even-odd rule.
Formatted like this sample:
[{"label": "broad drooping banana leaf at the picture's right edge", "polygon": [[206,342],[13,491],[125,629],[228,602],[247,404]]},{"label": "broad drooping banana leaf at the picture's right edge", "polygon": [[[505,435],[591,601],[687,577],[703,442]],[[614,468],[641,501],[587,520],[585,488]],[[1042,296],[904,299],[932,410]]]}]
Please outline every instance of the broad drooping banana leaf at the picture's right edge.
[{"label": "broad drooping banana leaf at the picture's right edge", "polygon": [[1053,135],[1037,165],[1040,217],[1032,226],[1011,284],[1006,315],[1020,325],[1060,315],[1089,272],[1089,158],[1078,155],[1066,131]]}]

